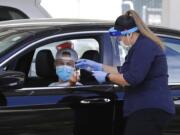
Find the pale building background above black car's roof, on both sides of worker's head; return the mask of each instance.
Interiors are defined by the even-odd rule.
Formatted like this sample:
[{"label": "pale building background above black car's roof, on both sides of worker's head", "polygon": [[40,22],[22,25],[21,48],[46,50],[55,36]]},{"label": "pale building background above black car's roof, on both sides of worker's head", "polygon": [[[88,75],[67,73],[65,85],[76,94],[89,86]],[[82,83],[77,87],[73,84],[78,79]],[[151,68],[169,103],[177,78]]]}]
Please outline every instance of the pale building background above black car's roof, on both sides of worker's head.
[{"label": "pale building background above black car's roof, on both sides of worker's head", "polygon": [[[139,13],[146,24],[180,29],[180,0],[41,1],[43,7],[55,18],[115,20],[131,8]],[[128,5],[127,2],[131,3],[132,6]]]}]

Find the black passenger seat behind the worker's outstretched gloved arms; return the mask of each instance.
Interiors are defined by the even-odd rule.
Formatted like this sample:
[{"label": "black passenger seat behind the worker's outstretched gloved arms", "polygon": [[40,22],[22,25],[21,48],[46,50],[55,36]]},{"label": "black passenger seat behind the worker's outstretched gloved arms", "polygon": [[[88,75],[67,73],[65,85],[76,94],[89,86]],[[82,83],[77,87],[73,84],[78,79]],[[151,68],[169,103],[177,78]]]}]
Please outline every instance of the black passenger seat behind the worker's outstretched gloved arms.
[{"label": "black passenger seat behind the worker's outstretched gloved arms", "polygon": [[[100,55],[99,52],[96,50],[88,50],[84,52],[81,58],[100,62]],[[84,69],[80,70],[80,82],[84,85],[98,84],[94,76],[92,76],[92,73]]]}]

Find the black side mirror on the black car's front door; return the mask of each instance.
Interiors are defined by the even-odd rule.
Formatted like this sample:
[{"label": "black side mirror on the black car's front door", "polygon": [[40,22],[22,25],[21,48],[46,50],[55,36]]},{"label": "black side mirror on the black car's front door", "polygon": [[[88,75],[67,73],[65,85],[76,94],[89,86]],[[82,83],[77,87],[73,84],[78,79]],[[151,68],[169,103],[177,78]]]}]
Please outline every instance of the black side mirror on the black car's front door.
[{"label": "black side mirror on the black car's front door", "polygon": [[19,71],[0,71],[0,90],[21,88],[25,75]]}]

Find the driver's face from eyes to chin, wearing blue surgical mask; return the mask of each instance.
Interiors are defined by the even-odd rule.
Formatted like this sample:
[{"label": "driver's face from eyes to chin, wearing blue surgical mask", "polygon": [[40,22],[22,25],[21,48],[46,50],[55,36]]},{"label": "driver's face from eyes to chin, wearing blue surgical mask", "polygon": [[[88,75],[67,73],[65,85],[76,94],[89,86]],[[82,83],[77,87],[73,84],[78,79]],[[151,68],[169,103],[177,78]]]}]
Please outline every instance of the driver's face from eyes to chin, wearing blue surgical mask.
[{"label": "driver's face from eyes to chin, wearing blue surgical mask", "polygon": [[56,74],[59,80],[64,82],[70,80],[75,71],[74,61],[71,60],[56,60]]}]

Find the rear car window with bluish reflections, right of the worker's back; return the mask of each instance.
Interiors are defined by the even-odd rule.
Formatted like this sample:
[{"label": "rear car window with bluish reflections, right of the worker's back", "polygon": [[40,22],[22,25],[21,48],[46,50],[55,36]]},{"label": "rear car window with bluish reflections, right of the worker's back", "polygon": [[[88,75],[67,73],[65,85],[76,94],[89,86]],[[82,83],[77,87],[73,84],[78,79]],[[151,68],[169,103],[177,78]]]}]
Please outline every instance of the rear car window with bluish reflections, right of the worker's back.
[{"label": "rear car window with bluish reflections, right of the worker's back", "polygon": [[180,82],[180,40],[173,38],[163,38],[163,40],[166,46],[169,82]]}]

